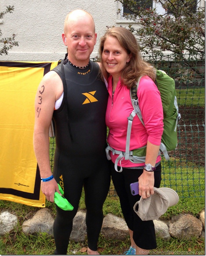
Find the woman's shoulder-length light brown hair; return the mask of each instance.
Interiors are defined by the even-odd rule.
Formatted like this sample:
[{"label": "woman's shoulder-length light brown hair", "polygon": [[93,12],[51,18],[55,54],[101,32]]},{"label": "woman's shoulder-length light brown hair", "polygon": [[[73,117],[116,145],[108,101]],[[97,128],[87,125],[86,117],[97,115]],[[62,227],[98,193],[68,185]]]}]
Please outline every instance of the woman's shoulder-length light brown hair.
[{"label": "woman's shoulder-length light brown hair", "polygon": [[102,63],[102,53],[104,49],[104,43],[108,36],[114,36],[119,41],[120,45],[127,51],[128,54],[132,54],[130,62],[126,64],[122,70],[121,81],[128,88],[131,88],[140,76],[149,76],[153,81],[155,80],[154,67],[143,60],[140,54],[140,47],[135,36],[126,28],[113,27],[108,29],[100,39],[100,62],[102,68],[102,74],[108,76],[109,74],[104,68]]}]

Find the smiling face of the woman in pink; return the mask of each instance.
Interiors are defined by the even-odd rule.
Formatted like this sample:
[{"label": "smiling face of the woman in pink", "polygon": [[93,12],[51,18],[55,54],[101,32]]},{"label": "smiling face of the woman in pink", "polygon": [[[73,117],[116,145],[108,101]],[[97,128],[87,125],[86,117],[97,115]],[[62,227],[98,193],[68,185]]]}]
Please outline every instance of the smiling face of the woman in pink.
[{"label": "smiling face of the woman in pink", "polygon": [[113,77],[120,77],[123,69],[131,58],[131,53],[120,45],[118,39],[114,36],[108,36],[104,42],[102,52],[102,61],[106,71]]}]

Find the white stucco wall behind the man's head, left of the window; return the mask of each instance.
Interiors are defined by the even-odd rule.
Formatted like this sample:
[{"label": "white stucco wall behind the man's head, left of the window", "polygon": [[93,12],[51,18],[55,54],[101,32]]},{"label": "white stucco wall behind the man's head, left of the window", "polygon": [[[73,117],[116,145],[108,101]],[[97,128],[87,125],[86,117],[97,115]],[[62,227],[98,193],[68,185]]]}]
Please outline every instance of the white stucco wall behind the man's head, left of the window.
[{"label": "white stucco wall behind the man's head, left of the window", "polygon": [[15,10],[4,16],[0,29],[3,37],[17,34],[19,46],[9,50],[8,55],[0,56],[0,60],[56,61],[63,58],[66,53],[61,37],[64,19],[74,9],[84,9],[94,18],[97,44],[91,57],[95,57],[106,26],[116,25],[117,19],[114,0],[0,0],[1,11],[8,5],[14,5]]}]

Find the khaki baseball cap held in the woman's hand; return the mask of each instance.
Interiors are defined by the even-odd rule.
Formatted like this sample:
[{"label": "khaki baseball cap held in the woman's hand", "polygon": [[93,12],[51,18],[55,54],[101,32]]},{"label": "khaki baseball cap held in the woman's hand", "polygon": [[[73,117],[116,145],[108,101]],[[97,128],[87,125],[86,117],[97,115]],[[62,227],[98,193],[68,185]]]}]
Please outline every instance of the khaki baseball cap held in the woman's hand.
[{"label": "khaki baseball cap held in the woman's hand", "polygon": [[173,189],[154,187],[154,194],[146,199],[141,196],[133,208],[142,221],[150,221],[158,219],[166,213],[168,207],[176,205],[178,201],[179,196]]}]

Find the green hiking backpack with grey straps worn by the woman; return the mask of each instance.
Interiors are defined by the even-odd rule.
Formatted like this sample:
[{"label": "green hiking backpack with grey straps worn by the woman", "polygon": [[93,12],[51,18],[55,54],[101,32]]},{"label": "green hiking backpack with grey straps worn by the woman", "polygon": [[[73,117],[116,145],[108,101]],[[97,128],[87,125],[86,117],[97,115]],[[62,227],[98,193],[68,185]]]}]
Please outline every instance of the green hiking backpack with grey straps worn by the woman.
[{"label": "green hiking backpack with grey straps worn by the woman", "polygon": [[[141,76],[142,77],[142,76]],[[113,149],[108,145],[106,148],[107,159],[111,160],[109,151],[112,154],[118,154],[118,158],[115,161],[115,169],[118,172],[122,171],[121,160],[130,160],[133,163],[145,163],[147,146],[129,151],[130,136],[132,128],[132,120],[137,115],[144,125],[142,119],[141,110],[138,104],[137,90],[141,77],[139,77],[136,84],[130,89],[130,97],[134,110],[128,117],[127,137],[126,137],[126,149],[125,152]],[[164,154],[165,159],[169,160],[168,151],[174,150],[177,147],[177,122],[181,118],[178,113],[177,97],[175,91],[175,81],[169,77],[164,71],[156,70],[156,86],[160,92],[162,107],[163,107],[163,123],[164,131],[162,134],[160,151]],[[118,162],[120,161],[120,170],[118,170]]]}]

